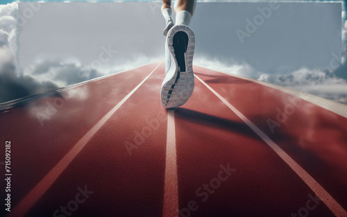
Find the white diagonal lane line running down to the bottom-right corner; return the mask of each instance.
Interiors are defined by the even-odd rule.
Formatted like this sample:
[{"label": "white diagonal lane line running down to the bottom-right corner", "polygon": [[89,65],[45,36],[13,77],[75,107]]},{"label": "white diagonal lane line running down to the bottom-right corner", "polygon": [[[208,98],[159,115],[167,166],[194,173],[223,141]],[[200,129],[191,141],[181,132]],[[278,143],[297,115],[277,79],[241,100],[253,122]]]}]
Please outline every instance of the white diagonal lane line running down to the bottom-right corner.
[{"label": "white diagonal lane line running down to the bottom-right corner", "polygon": [[266,136],[264,132],[262,132],[262,130],[257,128],[257,126],[254,123],[249,121],[246,118],[246,116],[244,116],[244,114],[239,112],[239,110],[237,110],[230,103],[228,103],[226,99],[224,99],[221,95],[215,92],[214,89],[212,89],[208,84],[206,84],[203,80],[201,80],[201,78],[199,78],[196,75],[194,76],[198,78],[198,80],[200,80],[201,83],[203,83],[203,85],[208,87],[208,89],[210,89],[210,91],[214,95],[216,95],[224,104],[226,104],[226,106],[228,106],[230,110],[232,110],[232,112],[235,112],[235,114],[237,114],[237,116],[239,116],[239,118],[242,119],[242,121],[244,121],[244,123],[246,123],[260,138],[262,138],[262,140],[264,140],[266,144],[268,144],[278,154],[278,156],[280,156],[280,158],[282,158],[291,167],[291,169],[299,177],[301,177],[301,179],[310,187],[310,189],[312,189],[312,191],[316,194],[316,196],[321,198],[321,200],[332,211],[332,213],[335,214],[335,216],[341,216],[341,217],[347,216],[346,210],[343,207],[341,207],[341,205],[339,205],[339,203],[334,198],[332,198],[332,196],[330,196],[330,193],[328,193],[328,191],[326,191],[323,188],[323,186],[321,186],[321,184],[316,182],[316,180],[314,180],[314,178],[310,174],[308,174],[298,163],[296,163],[294,159],[289,157],[289,155],[287,155],[287,153],[285,153],[285,151],[282,150],[280,146],[275,144],[268,136]]}]

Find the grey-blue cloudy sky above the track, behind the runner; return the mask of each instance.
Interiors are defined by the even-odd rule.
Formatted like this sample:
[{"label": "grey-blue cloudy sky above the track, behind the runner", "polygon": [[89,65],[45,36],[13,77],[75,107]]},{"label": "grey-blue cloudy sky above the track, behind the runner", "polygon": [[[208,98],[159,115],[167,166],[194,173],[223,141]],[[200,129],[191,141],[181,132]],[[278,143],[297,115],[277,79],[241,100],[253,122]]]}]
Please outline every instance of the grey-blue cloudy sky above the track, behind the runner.
[{"label": "grey-blue cloudy sky above the track, behind the runner", "polygon": [[[0,103],[163,60],[160,6],[0,6]],[[347,104],[341,3],[198,2],[190,26],[194,64]]]}]

